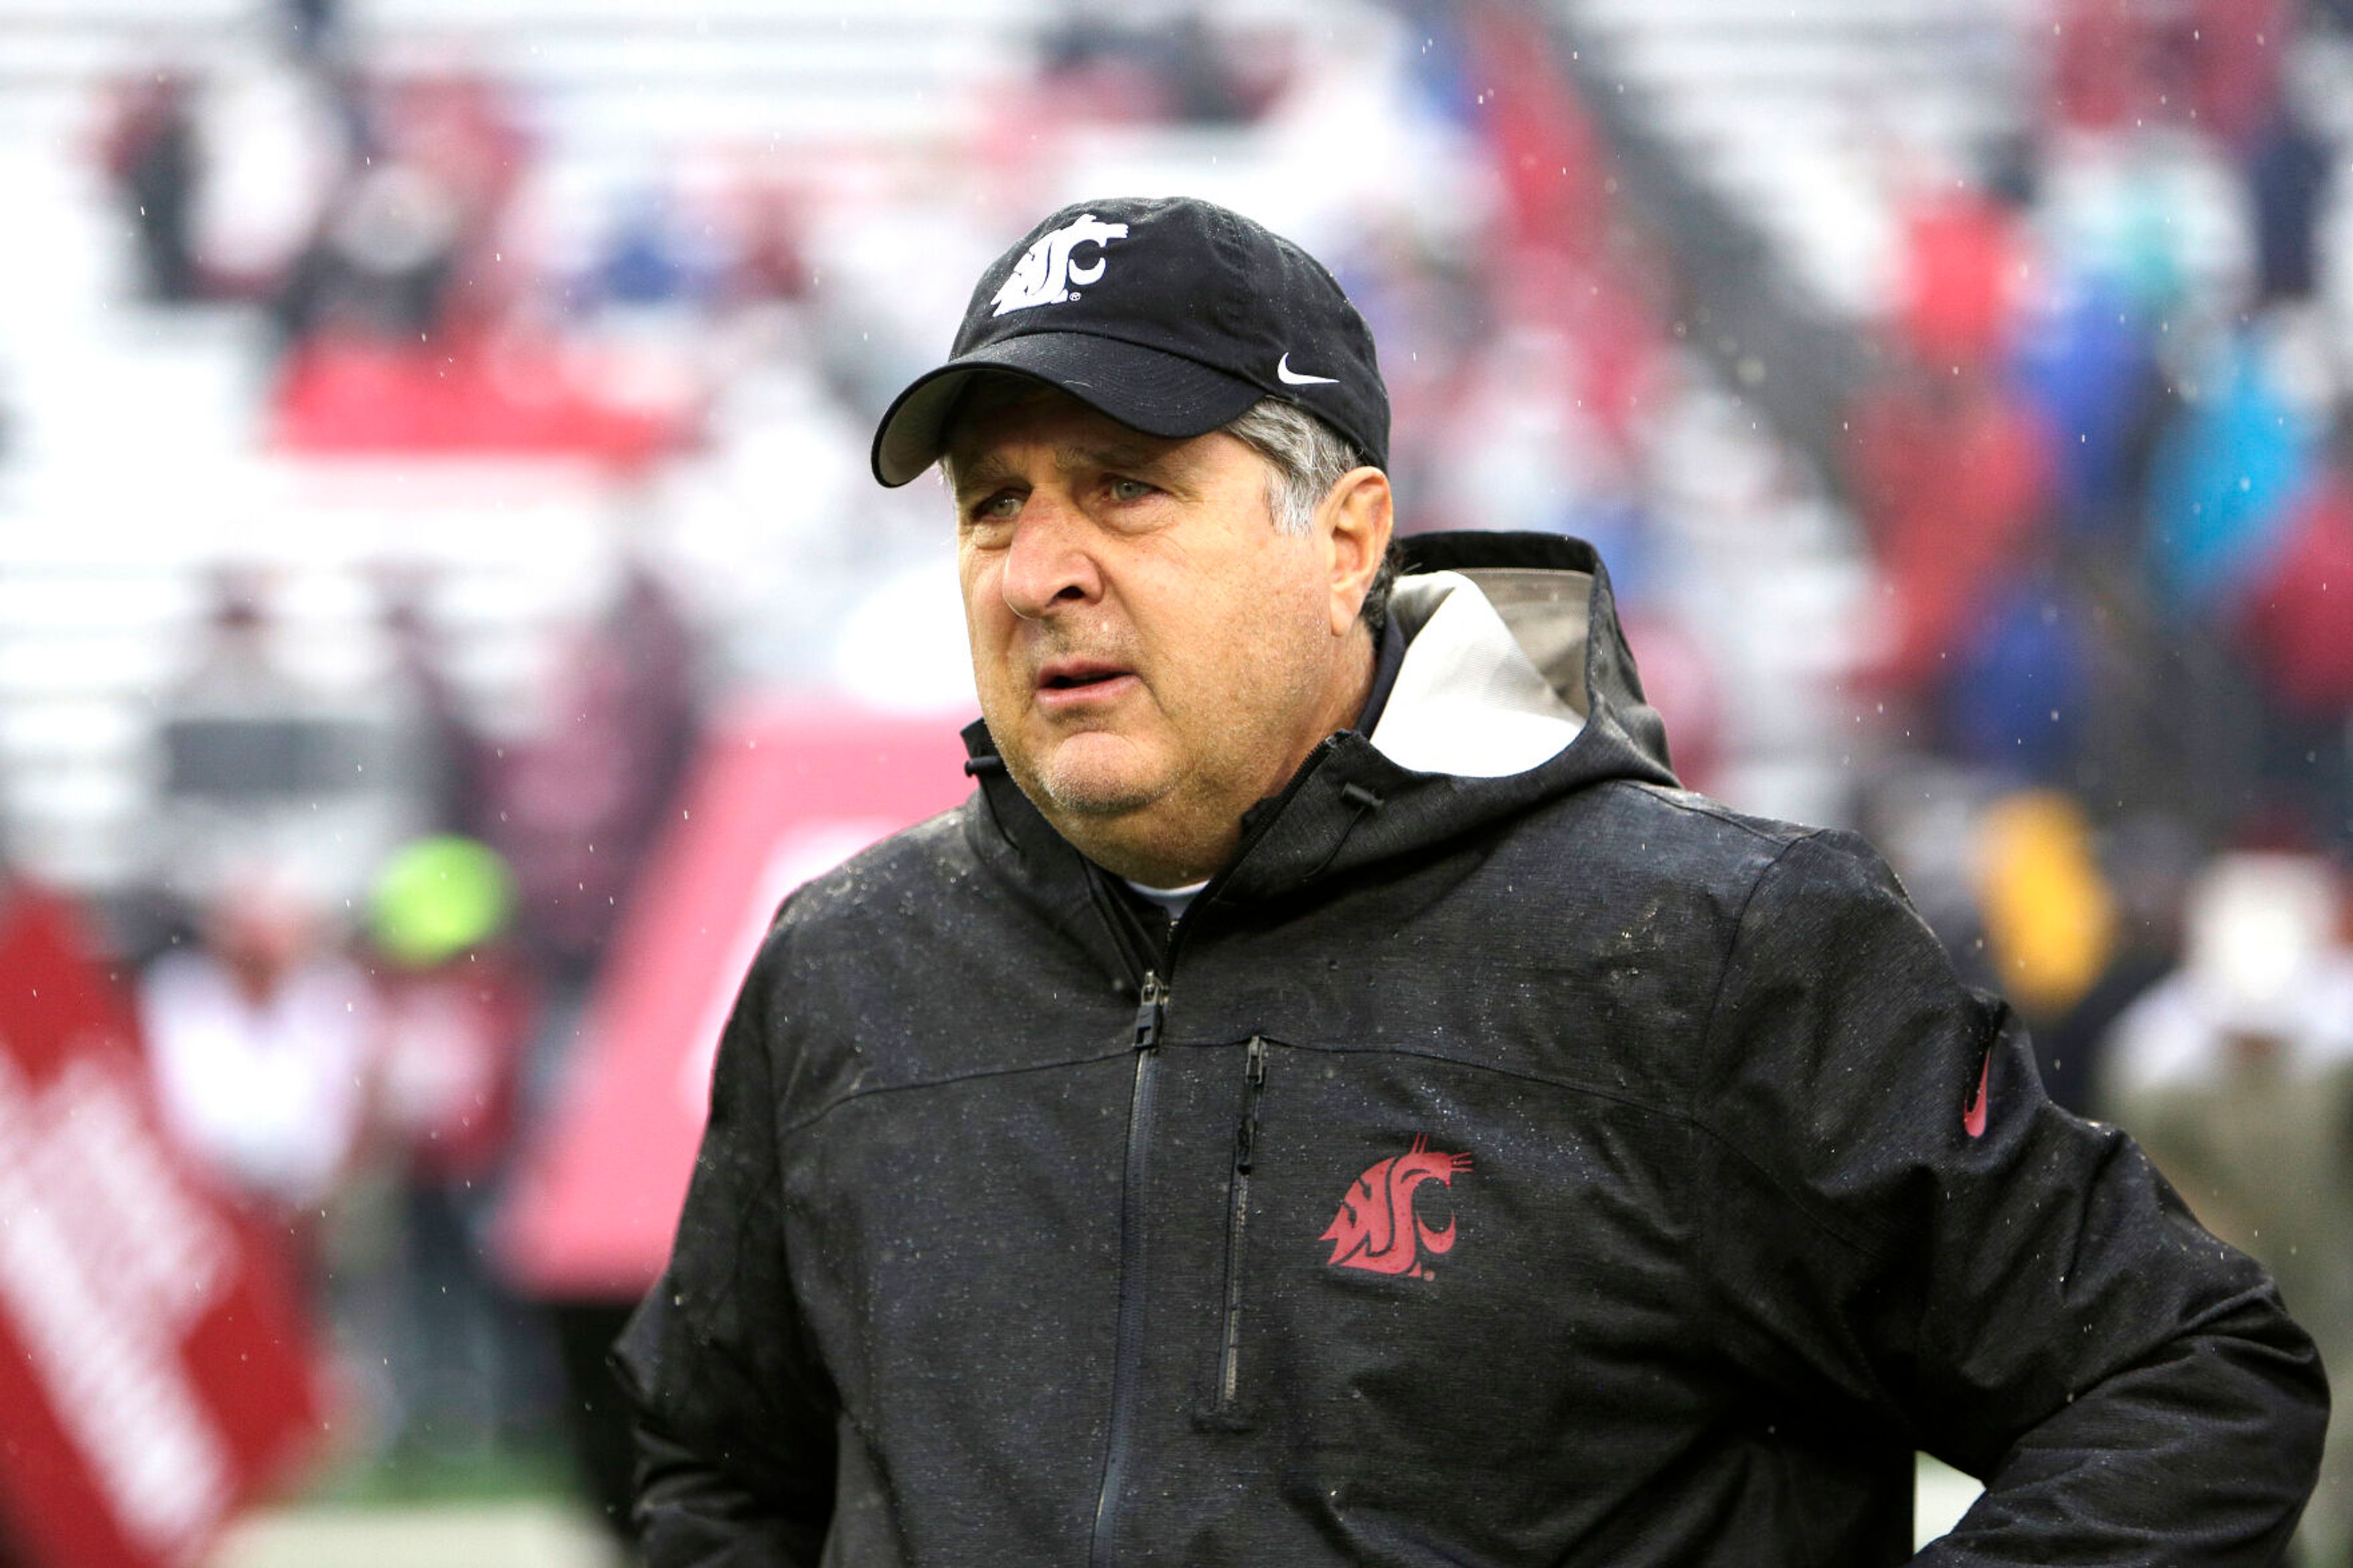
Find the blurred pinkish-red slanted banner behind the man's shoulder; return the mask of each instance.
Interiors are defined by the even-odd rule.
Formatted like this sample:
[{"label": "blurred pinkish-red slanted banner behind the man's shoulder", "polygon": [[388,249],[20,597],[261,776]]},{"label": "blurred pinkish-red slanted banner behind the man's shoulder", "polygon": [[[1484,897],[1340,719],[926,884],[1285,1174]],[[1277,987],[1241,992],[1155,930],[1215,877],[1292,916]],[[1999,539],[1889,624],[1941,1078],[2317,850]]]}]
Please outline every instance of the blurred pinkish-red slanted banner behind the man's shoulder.
[{"label": "blurred pinkish-red slanted banner behind the man's shoulder", "polygon": [[711,1057],[786,892],[969,791],[955,720],[772,709],[720,725],[649,859],[501,1234],[534,1295],[642,1295],[671,1255]]}]

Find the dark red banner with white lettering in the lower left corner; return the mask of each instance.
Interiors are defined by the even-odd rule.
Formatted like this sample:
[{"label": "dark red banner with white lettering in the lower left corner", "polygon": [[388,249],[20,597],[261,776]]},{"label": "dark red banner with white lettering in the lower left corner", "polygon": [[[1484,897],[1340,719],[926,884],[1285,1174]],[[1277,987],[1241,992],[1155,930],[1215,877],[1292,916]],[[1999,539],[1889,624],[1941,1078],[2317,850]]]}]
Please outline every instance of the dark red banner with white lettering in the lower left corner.
[{"label": "dark red banner with white lettering in the lower left corner", "polygon": [[296,1297],[153,1111],[73,913],[0,888],[0,1519],[26,1568],[195,1563],[320,1431]]}]

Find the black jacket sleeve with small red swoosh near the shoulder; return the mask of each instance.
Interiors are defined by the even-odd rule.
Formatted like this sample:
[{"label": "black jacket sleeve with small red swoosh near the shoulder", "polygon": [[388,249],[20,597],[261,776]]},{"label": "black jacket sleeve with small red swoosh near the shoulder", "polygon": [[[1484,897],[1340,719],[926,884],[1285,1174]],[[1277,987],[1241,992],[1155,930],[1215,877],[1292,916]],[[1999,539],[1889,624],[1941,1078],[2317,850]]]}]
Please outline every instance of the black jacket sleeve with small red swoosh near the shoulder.
[{"label": "black jacket sleeve with small red swoosh near the shoulder", "polygon": [[2278,1561],[2327,1415],[2311,1340],[2132,1140],[2045,1099],[1859,838],[1758,881],[1694,1109],[1727,1351],[1777,1408],[1986,1483],[1920,1563]]}]

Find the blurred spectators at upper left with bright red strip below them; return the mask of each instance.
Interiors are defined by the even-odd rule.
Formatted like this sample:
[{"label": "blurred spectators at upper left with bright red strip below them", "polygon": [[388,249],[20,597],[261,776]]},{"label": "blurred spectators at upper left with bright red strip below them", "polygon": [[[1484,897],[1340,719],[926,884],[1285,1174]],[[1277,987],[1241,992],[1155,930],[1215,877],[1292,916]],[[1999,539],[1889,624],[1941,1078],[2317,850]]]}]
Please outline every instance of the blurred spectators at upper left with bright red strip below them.
[{"label": "blurred spectators at upper left with bright red strip below them", "polygon": [[[642,200],[558,290],[525,261],[532,144],[511,97],[452,71],[386,78],[327,47],[332,12],[231,80],[155,71],[120,92],[106,167],[160,304],[252,301],[275,327],[273,440],[289,452],[595,454],[689,436],[682,388],[614,386],[565,320],[605,301],[791,294],[788,217],[760,210],[725,271],[678,254]],[[506,264],[506,252],[515,264]]]}]

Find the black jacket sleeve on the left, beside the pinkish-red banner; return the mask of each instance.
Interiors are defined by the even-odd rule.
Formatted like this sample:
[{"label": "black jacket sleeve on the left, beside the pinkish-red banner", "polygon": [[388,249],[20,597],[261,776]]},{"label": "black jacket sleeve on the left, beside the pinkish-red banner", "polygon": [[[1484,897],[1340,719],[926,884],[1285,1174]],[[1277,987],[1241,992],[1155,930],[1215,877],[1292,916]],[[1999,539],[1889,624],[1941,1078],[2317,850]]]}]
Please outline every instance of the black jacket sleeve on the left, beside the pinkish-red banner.
[{"label": "black jacket sleeve on the left, beside the pinkish-red banner", "polygon": [[784,1243],[776,984],[772,935],[720,1036],[671,1264],[614,1347],[647,1568],[800,1568],[833,1516],[835,1398]]}]

